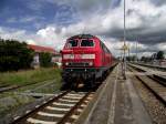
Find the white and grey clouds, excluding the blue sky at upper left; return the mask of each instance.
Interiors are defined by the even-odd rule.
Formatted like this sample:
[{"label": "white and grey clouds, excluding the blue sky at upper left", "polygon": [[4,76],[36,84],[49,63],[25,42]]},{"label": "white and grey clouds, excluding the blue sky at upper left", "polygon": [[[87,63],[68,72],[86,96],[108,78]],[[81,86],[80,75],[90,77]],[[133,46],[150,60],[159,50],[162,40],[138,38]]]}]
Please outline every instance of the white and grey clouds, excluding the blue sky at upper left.
[{"label": "white and grey clouds, excluding the blue sky at upper left", "polygon": [[[117,49],[123,45],[123,0],[44,1],[61,7],[54,12],[53,23],[41,28],[41,24],[35,22],[38,30],[33,33],[22,30],[11,32],[8,29],[1,35],[61,49],[69,37],[91,33],[101,38],[114,54],[121,54]],[[38,18],[27,17],[20,21],[37,20]],[[11,18],[10,21],[15,20]],[[165,22],[166,3],[162,0],[126,0],[126,41],[131,51],[135,53],[136,40],[139,42],[139,53],[166,50]]]}]

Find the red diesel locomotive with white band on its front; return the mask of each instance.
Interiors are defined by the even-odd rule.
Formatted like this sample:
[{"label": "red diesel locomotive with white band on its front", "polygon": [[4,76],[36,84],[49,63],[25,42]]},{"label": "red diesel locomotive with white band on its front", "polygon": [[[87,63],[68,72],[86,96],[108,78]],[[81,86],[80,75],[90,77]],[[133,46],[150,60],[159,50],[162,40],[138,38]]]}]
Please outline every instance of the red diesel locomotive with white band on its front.
[{"label": "red diesel locomotive with white band on its front", "polygon": [[71,37],[61,51],[63,87],[76,85],[81,79],[86,86],[93,86],[113,66],[113,55],[105,44],[91,34]]}]

